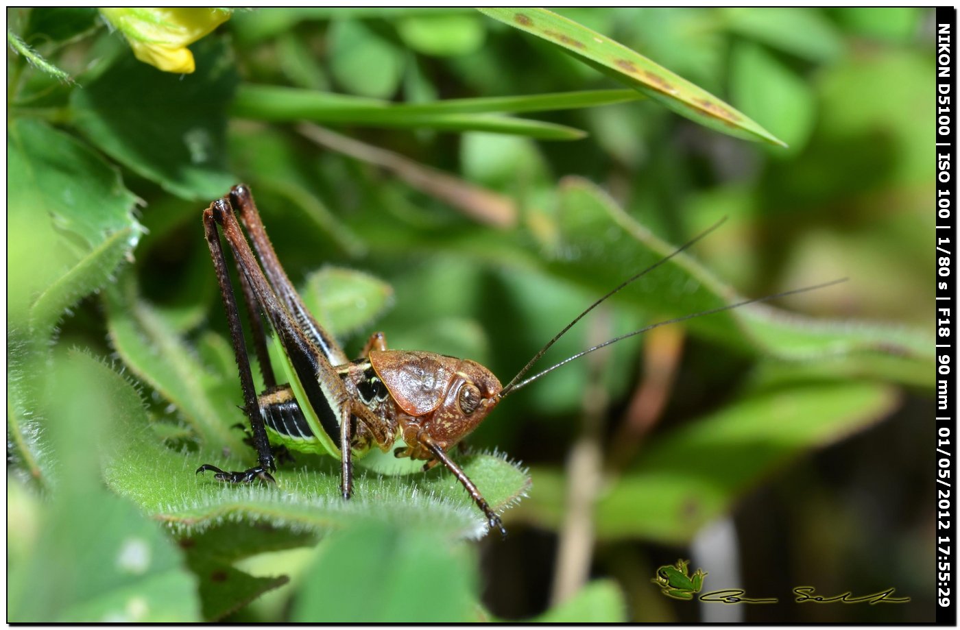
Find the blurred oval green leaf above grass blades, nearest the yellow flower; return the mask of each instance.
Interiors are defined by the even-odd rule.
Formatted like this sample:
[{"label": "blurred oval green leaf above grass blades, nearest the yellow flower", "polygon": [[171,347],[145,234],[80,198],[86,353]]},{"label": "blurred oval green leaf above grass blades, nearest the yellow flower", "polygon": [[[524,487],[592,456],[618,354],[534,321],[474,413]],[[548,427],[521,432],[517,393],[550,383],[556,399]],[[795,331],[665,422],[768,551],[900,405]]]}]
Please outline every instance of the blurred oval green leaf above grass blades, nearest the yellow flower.
[{"label": "blurred oval green leaf above grass blades, nearest the yellow flower", "polygon": [[329,37],[330,71],[348,92],[373,98],[396,93],[402,70],[402,52],[363,22],[335,20]]}]

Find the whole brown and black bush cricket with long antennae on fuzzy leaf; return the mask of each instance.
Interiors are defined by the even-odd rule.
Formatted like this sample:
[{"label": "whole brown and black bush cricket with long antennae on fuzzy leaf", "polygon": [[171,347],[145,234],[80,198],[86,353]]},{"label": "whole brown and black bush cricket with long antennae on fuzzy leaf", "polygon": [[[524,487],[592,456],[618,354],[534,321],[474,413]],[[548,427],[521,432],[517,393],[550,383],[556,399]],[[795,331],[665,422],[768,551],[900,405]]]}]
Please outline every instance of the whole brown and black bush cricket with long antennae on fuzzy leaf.
[{"label": "whole brown and black bush cricket with long antennae on fuzzy leaf", "polygon": [[[197,472],[212,471],[216,473],[216,479],[232,483],[252,482],[254,479],[274,481],[271,475],[276,472],[273,440],[277,447],[326,453],[340,459],[341,493],[344,498],[349,498],[353,458],[362,457],[373,447],[387,452],[398,439],[402,439],[405,447],[394,450],[396,457],[424,460],[424,471],[443,464],[467,489],[484,513],[488,525],[506,535],[500,518],[479,489],[447,455],[447,450],[476,428],[500,400],[569,361],[654,327],[842,281],[834,280],[658,322],[578,352],[535,376],[524,378],[543,353],[594,307],[680,254],[722,222],[704,230],[672,254],[592,303],[537,352],[510,382],[501,385],[487,368],[468,359],[434,352],[387,350],[382,332],[371,335],[360,358],[349,360],[306,309],[280,266],[253,203],[250,188],[237,184],[227,196],[204,209],[204,231],[227,312],[230,340],[243,391],[243,408],[250,421],[251,442],[258,462],[257,466],[240,472],[223,471],[210,464],[204,464]],[[244,229],[250,236],[252,249]],[[250,316],[253,351],[265,384],[265,390],[259,394],[253,384],[251,362],[220,232],[233,254],[244,304]],[[276,342],[283,350],[281,367],[287,377],[285,383],[278,384],[274,374],[264,319],[274,329]]]}]

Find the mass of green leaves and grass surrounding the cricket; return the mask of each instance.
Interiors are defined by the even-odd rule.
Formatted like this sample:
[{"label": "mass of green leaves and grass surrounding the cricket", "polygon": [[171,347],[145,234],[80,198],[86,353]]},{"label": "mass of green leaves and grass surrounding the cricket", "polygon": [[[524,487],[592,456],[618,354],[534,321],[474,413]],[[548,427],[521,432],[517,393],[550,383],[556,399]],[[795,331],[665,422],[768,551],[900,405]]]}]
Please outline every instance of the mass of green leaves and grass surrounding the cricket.
[{"label": "mass of green leaves and grass surrounding the cricket", "polygon": [[[896,586],[913,603],[888,619],[929,620],[932,526],[911,502],[932,493],[929,12],[485,12],[238,11],[178,76],[93,9],[8,10],[11,620],[686,620],[649,579],[731,514],[793,558],[781,598]],[[277,487],[193,474],[253,460],[200,221],[234,182],[349,353],[382,329],[504,382],[721,217],[538,367],[849,280],[631,337],[505,400],[460,457],[517,506],[512,540],[474,545],[456,480],[392,457],[359,462],[348,503],[317,456]],[[547,610],[551,573],[531,571],[555,559],[566,454],[590,435],[591,575],[610,579]]]}]

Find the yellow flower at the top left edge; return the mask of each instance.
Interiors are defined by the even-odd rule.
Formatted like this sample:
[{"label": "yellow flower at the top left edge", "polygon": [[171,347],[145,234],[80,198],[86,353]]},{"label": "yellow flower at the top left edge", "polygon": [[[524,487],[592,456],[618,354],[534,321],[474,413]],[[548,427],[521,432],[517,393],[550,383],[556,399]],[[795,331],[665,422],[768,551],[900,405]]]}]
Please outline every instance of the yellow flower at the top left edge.
[{"label": "yellow flower at the top left edge", "polygon": [[101,9],[118,31],[127,37],[136,59],[164,72],[194,71],[193,53],[187,46],[230,18],[221,9]]}]

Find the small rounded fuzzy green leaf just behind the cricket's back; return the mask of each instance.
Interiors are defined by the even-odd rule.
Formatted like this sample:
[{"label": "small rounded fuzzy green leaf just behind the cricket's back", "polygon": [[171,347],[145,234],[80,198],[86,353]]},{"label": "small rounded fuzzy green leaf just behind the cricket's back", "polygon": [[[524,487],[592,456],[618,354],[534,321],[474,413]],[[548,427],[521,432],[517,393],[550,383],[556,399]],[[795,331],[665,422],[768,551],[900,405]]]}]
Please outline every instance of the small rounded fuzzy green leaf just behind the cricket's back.
[{"label": "small rounded fuzzy green leaf just behind the cricket's back", "polygon": [[307,308],[334,337],[366,330],[392,302],[394,290],[363,272],[323,267],[310,274],[301,294]]}]

